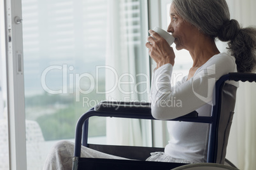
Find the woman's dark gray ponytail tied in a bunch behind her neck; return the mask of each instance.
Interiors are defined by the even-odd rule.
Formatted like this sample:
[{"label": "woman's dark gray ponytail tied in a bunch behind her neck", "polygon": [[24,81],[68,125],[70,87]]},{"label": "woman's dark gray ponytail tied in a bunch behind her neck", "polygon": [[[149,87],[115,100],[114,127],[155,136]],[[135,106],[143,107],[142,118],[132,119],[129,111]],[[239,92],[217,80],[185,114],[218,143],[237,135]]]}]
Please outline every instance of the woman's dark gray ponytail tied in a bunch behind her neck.
[{"label": "woman's dark gray ponytail tied in a bunch behind her neck", "polygon": [[256,29],[241,29],[237,20],[227,20],[218,31],[220,41],[230,41],[229,53],[236,58],[238,72],[253,72],[256,65]]}]

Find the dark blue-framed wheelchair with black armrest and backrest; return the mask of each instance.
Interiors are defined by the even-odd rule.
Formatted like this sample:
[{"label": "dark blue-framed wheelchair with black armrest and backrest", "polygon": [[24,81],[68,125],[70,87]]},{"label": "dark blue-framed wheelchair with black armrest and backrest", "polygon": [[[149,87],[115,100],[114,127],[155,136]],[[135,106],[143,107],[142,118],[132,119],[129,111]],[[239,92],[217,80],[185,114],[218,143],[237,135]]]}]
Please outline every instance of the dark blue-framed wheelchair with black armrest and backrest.
[{"label": "dark blue-framed wheelchair with black armrest and backrest", "polygon": [[[234,169],[237,168],[225,159],[229,131],[236,103],[237,88],[225,81],[256,82],[256,74],[229,73],[215,84],[210,117],[199,116],[196,111],[170,121],[201,122],[210,124],[208,137],[207,163],[183,164],[173,162],[145,161],[151,152],[163,152],[164,148],[128,147],[95,145],[87,143],[89,117],[120,117],[132,119],[154,119],[150,103],[103,101],[83,114],[76,124],[73,170],[79,169]],[[132,160],[96,159],[80,157],[81,146],[89,147],[106,154],[117,155]],[[228,165],[224,165],[228,164]]]}]

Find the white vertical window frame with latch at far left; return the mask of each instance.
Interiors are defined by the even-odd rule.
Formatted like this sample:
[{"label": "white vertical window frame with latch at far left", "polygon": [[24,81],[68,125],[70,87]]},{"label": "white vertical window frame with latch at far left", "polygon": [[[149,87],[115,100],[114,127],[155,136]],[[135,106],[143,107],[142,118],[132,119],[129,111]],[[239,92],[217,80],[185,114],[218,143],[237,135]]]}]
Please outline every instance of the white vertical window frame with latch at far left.
[{"label": "white vertical window frame with latch at far left", "polygon": [[10,169],[27,169],[21,9],[20,0],[4,0]]}]

